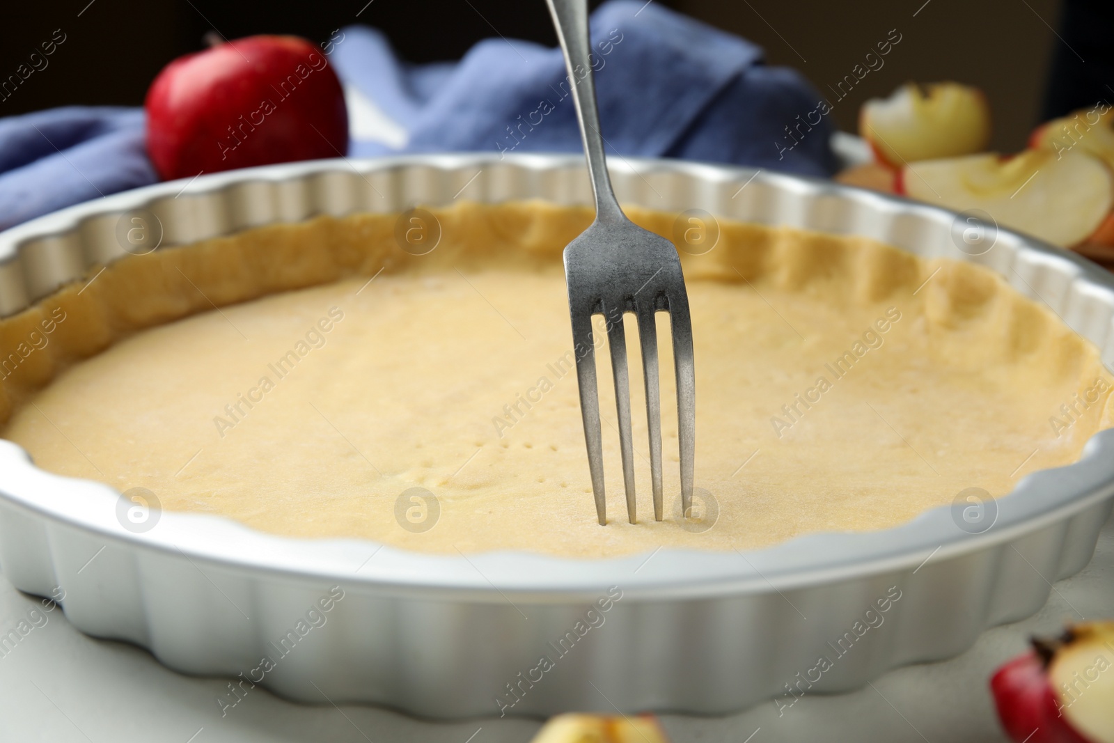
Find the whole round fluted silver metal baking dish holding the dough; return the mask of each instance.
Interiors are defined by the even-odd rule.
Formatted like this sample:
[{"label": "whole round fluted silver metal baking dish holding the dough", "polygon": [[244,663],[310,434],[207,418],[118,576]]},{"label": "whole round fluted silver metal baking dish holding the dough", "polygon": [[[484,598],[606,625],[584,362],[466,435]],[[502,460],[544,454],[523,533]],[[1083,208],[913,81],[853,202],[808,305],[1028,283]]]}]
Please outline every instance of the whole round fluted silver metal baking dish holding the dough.
[{"label": "whole round fluted silver metal baking dish holding the dough", "polygon": [[[1028,237],[1003,229],[993,250],[969,255],[952,239],[955,214],[829,182],[622,158],[612,173],[627,203],[976,261],[1114,359],[1114,277]],[[328,160],[159,184],[0,234],[0,315],[123,254],[114,231],[129,209],[156,214],[166,246],[316,214],[448,203],[461,189],[485,202],[590,203],[583,158],[557,155]],[[1079,462],[1030,475],[988,504],[989,528],[961,528],[944,507],[892,529],[744,554],[465,558],[290,539],[196,514],[164,512],[133,534],[113,488],[41,471],[0,441],[0,561],[21,590],[63,592],[66,616],[85,633],[141,645],[184,673],[237,677],[238,691],[218,701],[227,715],[253,682],[293,700],[431,717],[726,713],[851,690],[1033,614],[1051,581],[1091,558],[1112,495],[1107,430]],[[589,613],[602,597],[608,610]],[[323,599],[330,610],[311,614]]]}]

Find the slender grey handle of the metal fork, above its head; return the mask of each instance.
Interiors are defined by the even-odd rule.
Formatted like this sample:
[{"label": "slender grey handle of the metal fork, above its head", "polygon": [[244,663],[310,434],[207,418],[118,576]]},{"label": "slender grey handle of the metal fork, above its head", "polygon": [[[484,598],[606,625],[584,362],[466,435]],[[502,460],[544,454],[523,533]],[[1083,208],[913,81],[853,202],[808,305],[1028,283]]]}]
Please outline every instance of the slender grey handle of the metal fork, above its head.
[{"label": "slender grey handle of the metal fork, above its head", "polygon": [[[592,40],[588,36],[587,0],[546,0],[557,28],[557,39],[565,52],[576,118],[580,123],[580,138],[588,158],[588,175],[596,197],[596,219],[626,222],[627,218],[615,199],[612,179],[604,158],[604,138],[599,133],[599,109],[596,107],[596,84],[592,72]],[[579,74],[578,74],[579,70]]]}]

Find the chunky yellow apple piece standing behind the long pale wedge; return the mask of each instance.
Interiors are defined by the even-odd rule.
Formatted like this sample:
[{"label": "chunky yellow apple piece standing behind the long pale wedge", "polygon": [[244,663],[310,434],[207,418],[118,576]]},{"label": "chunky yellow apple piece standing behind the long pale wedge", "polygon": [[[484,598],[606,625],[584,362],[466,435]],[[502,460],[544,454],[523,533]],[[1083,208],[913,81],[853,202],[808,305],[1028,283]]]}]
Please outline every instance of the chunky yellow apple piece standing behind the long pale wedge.
[{"label": "chunky yellow apple piece standing behind the long pale wedge", "polygon": [[978,88],[958,82],[906,84],[859,109],[859,135],[891,167],[971,155],[990,140],[990,107]]}]

